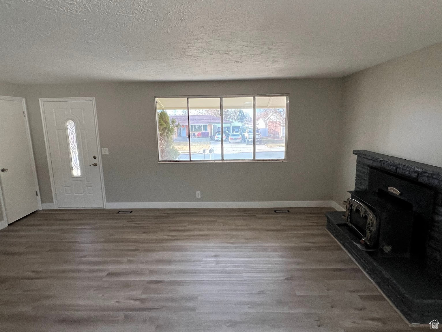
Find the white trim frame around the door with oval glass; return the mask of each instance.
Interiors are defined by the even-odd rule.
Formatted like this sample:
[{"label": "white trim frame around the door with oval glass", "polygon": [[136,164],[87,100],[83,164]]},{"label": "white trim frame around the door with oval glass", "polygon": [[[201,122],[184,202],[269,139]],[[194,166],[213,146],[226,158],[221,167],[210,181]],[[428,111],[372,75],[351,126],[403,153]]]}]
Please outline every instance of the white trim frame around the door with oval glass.
[{"label": "white trim frame around the door with oval glass", "polygon": [[[50,147],[49,147],[49,137],[48,137],[48,130],[46,126],[46,115],[45,115],[45,109],[43,107],[44,102],[69,102],[69,101],[91,101],[92,102],[92,111],[94,113],[94,126],[95,126],[95,136],[96,136],[96,142],[98,146],[98,165],[99,165],[99,172],[100,172],[100,181],[101,181],[101,192],[102,192],[102,199],[103,199],[103,209],[106,208],[106,191],[104,190],[104,177],[103,177],[103,162],[101,161],[101,145],[100,145],[100,138],[98,133],[98,118],[97,118],[97,107],[95,105],[95,97],[66,97],[66,98],[39,98],[38,102],[40,103],[40,113],[42,115],[42,123],[43,123],[43,134],[45,136],[45,147],[46,147],[46,157],[48,160],[48,168],[49,168],[49,179],[51,182],[51,190],[52,190],[52,199],[54,202],[54,208],[55,209],[67,209],[58,207],[57,204],[57,193],[55,191],[55,180],[53,175],[53,168],[52,168],[52,159],[51,159],[51,153],[50,153]],[[76,206],[76,207],[69,207],[69,209],[84,209],[82,206]],[[96,208],[100,209],[100,208]]]}]

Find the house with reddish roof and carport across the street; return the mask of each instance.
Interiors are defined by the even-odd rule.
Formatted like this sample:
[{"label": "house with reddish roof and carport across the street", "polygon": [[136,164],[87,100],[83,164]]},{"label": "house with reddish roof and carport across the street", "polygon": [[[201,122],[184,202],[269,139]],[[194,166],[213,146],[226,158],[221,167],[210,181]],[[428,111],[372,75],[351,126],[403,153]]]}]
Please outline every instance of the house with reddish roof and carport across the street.
[{"label": "house with reddish roof and carport across the street", "polygon": [[[187,115],[170,115],[175,119],[178,127],[175,131],[175,139],[178,137],[209,138],[221,131],[220,118],[214,115],[190,115],[190,131],[187,125]],[[239,133],[241,126],[247,124],[235,120],[226,119],[223,121],[223,129],[226,134]]]}]

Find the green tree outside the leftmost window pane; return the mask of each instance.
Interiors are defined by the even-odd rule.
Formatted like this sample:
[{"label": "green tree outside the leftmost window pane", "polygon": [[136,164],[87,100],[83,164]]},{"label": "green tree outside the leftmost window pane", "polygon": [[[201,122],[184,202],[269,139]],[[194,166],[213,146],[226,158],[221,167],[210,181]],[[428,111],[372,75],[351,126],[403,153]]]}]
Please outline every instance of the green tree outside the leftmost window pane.
[{"label": "green tree outside the leftmost window pane", "polygon": [[177,126],[175,119],[170,120],[166,111],[158,112],[158,141],[162,160],[178,159],[179,152],[173,146],[173,135]]}]

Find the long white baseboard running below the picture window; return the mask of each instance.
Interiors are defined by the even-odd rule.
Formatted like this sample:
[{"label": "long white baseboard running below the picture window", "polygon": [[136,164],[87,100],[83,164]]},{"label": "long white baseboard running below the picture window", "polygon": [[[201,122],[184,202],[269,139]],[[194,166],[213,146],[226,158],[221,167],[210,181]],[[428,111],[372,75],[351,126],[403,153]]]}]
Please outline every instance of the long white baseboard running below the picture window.
[{"label": "long white baseboard running below the picture window", "polygon": [[276,202],[107,202],[107,209],[198,209],[253,207],[331,207],[333,201]]}]

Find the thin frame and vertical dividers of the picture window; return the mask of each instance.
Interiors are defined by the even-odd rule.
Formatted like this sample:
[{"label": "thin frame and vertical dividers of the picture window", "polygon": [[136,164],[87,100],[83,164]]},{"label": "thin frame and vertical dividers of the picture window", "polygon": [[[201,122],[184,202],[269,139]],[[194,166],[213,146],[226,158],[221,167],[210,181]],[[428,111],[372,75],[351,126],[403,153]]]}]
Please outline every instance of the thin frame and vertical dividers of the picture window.
[{"label": "thin frame and vertical dividers of the picture window", "polygon": [[[190,130],[190,117],[189,117],[189,99],[194,98],[219,98],[220,99],[220,122],[221,122],[221,133],[224,132],[224,125],[223,125],[223,105],[222,105],[222,99],[223,98],[235,98],[235,97],[253,97],[253,154],[252,159],[224,159],[224,140],[221,140],[221,159],[219,160],[192,160],[192,154],[191,154],[191,140],[190,137],[188,139],[189,141],[189,160],[161,160],[160,159],[160,138],[158,133],[158,109],[157,109],[157,98],[187,98],[187,126],[189,128],[189,134],[191,132]],[[285,137],[284,137],[284,158],[282,159],[255,159],[255,152],[256,152],[256,140],[255,140],[255,133],[256,133],[256,98],[257,97],[286,97],[286,128],[285,128]],[[156,148],[157,148],[157,155],[158,155],[158,163],[159,164],[171,164],[171,163],[256,163],[256,162],[286,162],[287,161],[287,147],[288,147],[288,134],[287,134],[287,125],[289,120],[289,94],[260,94],[260,95],[158,95],[153,97],[153,102],[155,103],[155,118],[156,118]],[[182,124],[183,125],[183,124]],[[184,124],[186,125],[186,124]]]}]

